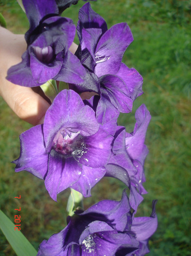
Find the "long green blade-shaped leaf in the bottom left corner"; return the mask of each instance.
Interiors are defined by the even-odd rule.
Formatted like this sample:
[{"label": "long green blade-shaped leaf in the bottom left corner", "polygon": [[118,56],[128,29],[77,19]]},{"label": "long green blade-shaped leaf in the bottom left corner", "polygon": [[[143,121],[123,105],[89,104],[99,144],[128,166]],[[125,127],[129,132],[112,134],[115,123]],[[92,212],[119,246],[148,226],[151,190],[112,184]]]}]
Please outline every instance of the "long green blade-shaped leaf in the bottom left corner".
[{"label": "long green blade-shaped leaf in the bottom left corner", "polygon": [[37,252],[27,238],[17,229],[13,222],[0,210],[0,229],[7,238],[17,256],[36,256]]}]

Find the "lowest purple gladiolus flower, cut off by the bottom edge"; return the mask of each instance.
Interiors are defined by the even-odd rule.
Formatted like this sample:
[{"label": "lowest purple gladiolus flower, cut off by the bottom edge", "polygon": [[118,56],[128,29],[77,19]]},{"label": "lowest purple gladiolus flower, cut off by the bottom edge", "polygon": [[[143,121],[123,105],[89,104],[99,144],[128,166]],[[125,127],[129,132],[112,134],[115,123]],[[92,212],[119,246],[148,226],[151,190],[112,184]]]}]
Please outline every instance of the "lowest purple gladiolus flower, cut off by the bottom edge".
[{"label": "lowest purple gladiolus flower, cut off by the bottom edge", "polygon": [[60,233],[44,240],[37,256],[143,256],[156,231],[155,204],[151,217],[132,217],[128,197],[103,200],[68,217]]}]

